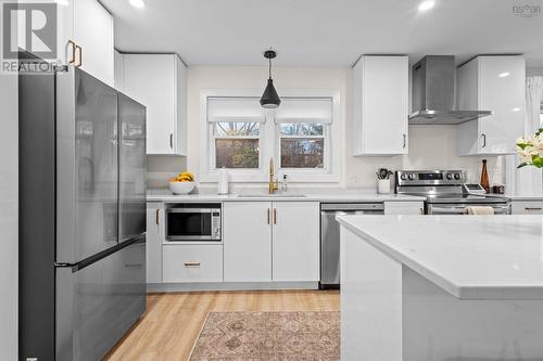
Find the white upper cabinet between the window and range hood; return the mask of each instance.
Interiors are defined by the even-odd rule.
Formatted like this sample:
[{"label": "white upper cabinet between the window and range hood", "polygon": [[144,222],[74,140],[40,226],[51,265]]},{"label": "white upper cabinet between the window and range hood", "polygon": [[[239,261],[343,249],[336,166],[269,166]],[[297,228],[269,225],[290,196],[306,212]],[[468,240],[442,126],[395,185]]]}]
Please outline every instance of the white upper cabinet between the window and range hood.
[{"label": "white upper cabinet between the window and range hood", "polygon": [[353,155],[408,152],[407,56],[362,56],[353,67]]}]

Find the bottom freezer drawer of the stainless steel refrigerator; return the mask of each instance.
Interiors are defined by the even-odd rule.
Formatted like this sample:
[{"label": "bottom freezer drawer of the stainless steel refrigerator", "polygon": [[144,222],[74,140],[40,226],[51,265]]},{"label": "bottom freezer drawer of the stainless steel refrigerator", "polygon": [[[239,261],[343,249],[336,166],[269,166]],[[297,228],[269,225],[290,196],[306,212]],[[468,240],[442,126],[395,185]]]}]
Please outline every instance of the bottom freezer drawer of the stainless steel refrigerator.
[{"label": "bottom freezer drawer of the stainless steel refrigerator", "polygon": [[102,359],[146,311],[144,236],[56,282],[56,361]]}]

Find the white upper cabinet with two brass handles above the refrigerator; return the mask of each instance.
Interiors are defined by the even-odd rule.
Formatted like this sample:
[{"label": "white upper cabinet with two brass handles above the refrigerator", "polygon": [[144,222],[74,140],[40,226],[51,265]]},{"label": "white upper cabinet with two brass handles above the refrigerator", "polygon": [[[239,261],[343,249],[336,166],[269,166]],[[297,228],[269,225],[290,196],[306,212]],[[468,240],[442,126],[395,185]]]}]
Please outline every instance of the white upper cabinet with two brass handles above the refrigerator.
[{"label": "white upper cabinet with two brass handles above the refrigerator", "polygon": [[59,5],[59,57],[113,87],[113,16],[97,0]]}]

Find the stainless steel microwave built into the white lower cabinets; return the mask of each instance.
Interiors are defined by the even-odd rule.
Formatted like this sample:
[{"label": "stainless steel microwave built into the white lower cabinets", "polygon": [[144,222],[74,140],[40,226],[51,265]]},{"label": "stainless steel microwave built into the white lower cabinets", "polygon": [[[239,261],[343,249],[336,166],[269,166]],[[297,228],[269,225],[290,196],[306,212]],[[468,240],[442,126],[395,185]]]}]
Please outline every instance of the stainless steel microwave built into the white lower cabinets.
[{"label": "stainless steel microwave built into the white lower cabinets", "polygon": [[220,210],[216,208],[169,208],[166,241],[220,241]]}]

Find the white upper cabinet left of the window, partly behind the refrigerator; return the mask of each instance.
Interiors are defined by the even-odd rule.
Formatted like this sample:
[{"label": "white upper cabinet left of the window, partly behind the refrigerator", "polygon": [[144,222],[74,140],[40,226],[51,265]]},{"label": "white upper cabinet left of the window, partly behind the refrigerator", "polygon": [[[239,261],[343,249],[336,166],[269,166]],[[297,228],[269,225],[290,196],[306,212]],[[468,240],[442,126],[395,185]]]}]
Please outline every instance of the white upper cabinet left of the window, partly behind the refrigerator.
[{"label": "white upper cabinet left of the window, partly behind the refrigerator", "polygon": [[123,54],[123,92],[147,107],[147,154],[187,155],[187,68],[176,54]]}]

